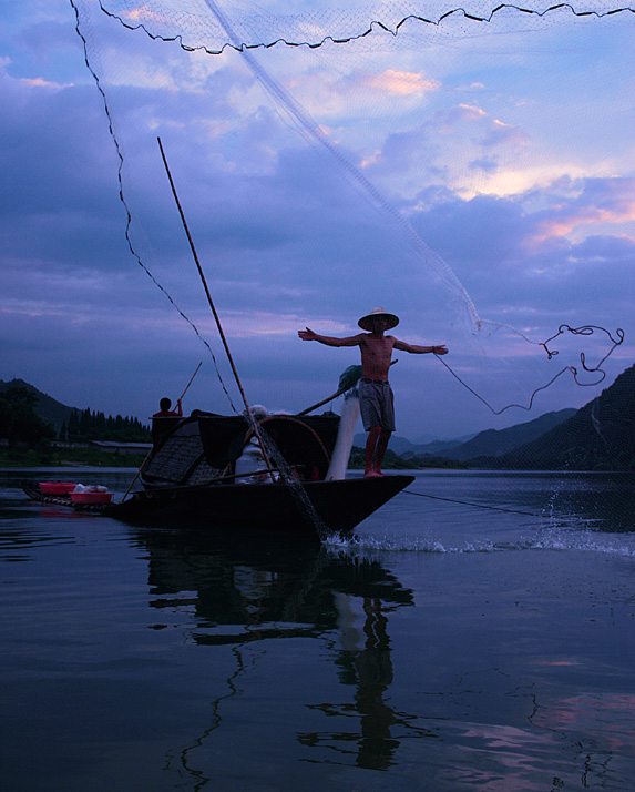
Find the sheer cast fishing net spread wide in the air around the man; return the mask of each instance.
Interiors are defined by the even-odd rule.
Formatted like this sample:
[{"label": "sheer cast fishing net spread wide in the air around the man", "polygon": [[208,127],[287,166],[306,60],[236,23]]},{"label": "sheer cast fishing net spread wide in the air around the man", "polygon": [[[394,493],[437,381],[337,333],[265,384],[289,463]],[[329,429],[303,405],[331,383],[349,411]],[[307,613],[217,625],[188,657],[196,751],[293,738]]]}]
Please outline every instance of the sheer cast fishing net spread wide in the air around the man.
[{"label": "sheer cast fishing net spread wide in the air around the man", "polygon": [[[316,372],[337,382],[355,361],[300,355],[296,332],[352,335],[373,304],[399,314],[398,337],[450,348],[391,370],[421,433],[450,403],[465,429],[578,408],[631,365],[632,9],[72,4],[131,261],[213,353],[206,408],[242,410],[157,138],[257,400],[284,392],[297,410]],[[628,398],[584,431],[622,422],[625,444]]]}]

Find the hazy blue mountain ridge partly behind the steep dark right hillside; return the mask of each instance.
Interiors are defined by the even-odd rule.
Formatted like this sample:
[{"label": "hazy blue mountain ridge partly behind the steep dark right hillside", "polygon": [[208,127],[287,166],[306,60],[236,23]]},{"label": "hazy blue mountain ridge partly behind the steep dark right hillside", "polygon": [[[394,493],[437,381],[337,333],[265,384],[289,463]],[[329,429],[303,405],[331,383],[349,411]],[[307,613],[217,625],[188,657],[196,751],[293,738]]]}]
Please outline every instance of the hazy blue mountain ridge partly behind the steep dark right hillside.
[{"label": "hazy blue mountain ridge partly behind the steep dark right hillside", "polygon": [[474,457],[499,457],[512,451],[519,446],[537,439],[545,431],[553,429],[567,418],[575,415],[574,408],[561,409],[555,413],[545,413],[540,418],[528,420],[524,424],[516,424],[506,429],[487,429],[480,431],[468,443],[450,446],[448,448],[437,448],[429,453],[437,456],[467,461]]}]

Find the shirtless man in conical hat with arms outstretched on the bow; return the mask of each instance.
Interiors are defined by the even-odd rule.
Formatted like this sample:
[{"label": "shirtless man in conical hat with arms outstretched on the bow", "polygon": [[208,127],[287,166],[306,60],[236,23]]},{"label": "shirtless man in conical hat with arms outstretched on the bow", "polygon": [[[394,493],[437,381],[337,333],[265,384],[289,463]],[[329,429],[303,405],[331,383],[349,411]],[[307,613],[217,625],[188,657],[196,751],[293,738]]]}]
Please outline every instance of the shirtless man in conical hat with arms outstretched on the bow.
[{"label": "shirtless man in conical hat with arms outstretched on the bow", "polygon": [[392,389],[388,383],[388,369],[392,349],[401,349],[416,355],[433,353],[447,355],[444,344],[434,346],[417,346],[399,341],[391,335],[385,335],[399,324],[395,314],[389,314],[383,308],[373,308],[367,316],[357,323],[367,333],[335,338],[319,335],[307,327],[298,331],[303,341],[317,341],[326,346],[359,346],[361,352],[361,378],[359,380],[359,408],[363,428],[368,431],[366,440],[365,478],[385,476],[381,464],[388,447],[390,435],[395,431],[395,408]]}]

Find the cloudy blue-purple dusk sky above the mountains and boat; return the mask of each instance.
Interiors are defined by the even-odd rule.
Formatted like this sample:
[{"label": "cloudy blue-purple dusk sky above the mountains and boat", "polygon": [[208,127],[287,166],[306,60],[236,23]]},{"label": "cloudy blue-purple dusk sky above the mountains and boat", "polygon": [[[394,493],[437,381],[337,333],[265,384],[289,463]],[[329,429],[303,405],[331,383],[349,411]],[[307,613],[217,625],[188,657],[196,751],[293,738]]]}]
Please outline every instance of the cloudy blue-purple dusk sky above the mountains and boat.
[{"label": "cloudy blue-purple dusk sky above the mountains and boat", "polygon": [[[178,17],[104,2],[153,34],[222,45],[214,7],[177,6]],[[377,305],[401,317],[397,337],[447,343],[445,362],[496,410],[580,368],[580,352],[593,365],[608,351],[602,333],[567,334],[547,359],[540,342],[561,324],[625,331],[601,387],[632,365],[635,14],[508,11],[246,58],[184,52],[93,0],[79,8],[124,158],[132,244],[208,341],[237,407],[157,135],[253,403],[295,412],[334,392],[358,352],[297,331],[350,335]],[[245,41],[368,27],[361,6],[332,8],[268,2],[255,20],[223,7]],[[203,361],[186,412],[229,412],[207,348],[129,251],[117,154],[71,3],[4,3],[0,21],[0,378],[145,419]],[[432,356],[396,357],[398,434],[411,439],[502,428],[600,393],[566,373],[530,413],[495,416]]]}]

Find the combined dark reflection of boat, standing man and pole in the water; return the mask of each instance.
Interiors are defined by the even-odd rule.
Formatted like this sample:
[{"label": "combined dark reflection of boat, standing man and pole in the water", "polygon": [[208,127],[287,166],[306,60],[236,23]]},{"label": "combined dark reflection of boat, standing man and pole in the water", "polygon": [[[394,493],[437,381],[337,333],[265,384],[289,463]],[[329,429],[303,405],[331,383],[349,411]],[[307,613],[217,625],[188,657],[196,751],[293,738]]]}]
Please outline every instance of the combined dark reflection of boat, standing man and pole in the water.
[{"label": "combined dark reflection of boat, standing man and pole in the water", "polygon": [[[187,640],[229,647],[234,656],[234,672],[226,679],[223,695],[212,702],[207,728],[190,747],[171,755],[172,762],[178,757],[178,771],[186,771],[197,789],[207,778],[198,749],[221,728],[219,710],[235,695],[239,676],[245,695],[249,670],[243,649],[257,641],[320,639],[320,649],[316,647],[307,657],[307,663],[315,664],[321,661],[317,656],[325,654],[326,639],[331,648],[327,657],[335,659],[339,686],[354,688],[352,695],[342,695],[338,684],[330,688],[328,698],[339,703],[300,701],[300,709],[321,712],[329,724],[332,715],[339,715],[338,723],[346,724],[346,731],[307,732],[299,723],[287,723],[286,733],[279,738],[294,741],[305,761],[307,748],[326,748],[331,757],[328,761],[332,762],[335,750],[341,753],[344,763],[349,763],[355,747],[358,766],[386,769],[393,763],[400,744],[396,727],[400,733],[406,729],[409,738],[430,735],[411,723],[414,718],[396,712],[387,700],[393,681],[390,615],[414,601],[412,591],[379,562],[306,544],[294,547],[288,536],[274,541],[243,535],[232,541],[226,537],[221,540],[219,534],[204,538],[195,532],[150,530],[136,537],[147,551],[151,606],[158,615],[170,615],[160,618],[155,627],[167,626],[178,611],[186,612],[187,625],[181,621],[180,628],[183,631],[185,627]],[[278,682],[285,684],[281,678]],[[307,698],[314,694],[305,692]],[[194,749],[196,762],[190,757]],[[320,755],[318,751],[310,760],[319,762]],[[198,765],[196,770],[194,764]]]}]

